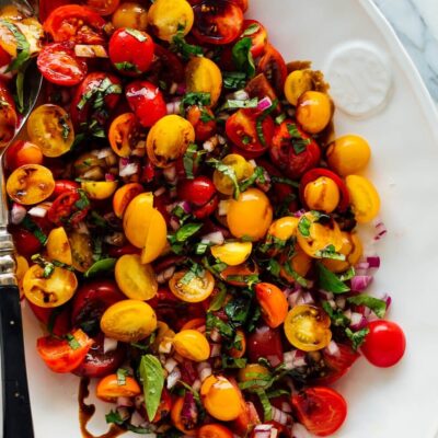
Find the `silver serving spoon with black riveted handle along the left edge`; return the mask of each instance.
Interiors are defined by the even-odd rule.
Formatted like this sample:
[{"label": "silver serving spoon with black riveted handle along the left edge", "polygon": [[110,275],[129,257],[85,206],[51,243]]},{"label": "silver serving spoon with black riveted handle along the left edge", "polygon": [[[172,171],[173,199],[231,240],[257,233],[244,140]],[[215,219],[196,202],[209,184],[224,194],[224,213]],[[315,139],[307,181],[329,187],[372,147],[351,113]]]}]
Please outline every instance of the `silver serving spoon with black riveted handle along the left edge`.
[{"label": "silver serving spoon with black riveted handle along the left edge", "polygon": [[[0,0],[0,8],[10,4]],[[12,1],[26,15],[36,16],[36,8],[26,0]],[[24,107],[26,108],[15,137],[34,107],[42,87],[42,76],[32,60],[24,73]],[[12,141],[11,141],[12,142]],[[15,277],[14,245],[8,232],[9,212],[0,150],[0,351],[2,374],[3,438],[34,438],[24,356],[20,291]]]}]

